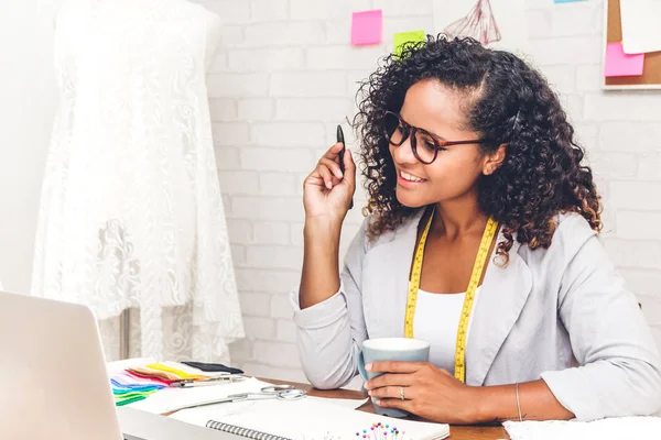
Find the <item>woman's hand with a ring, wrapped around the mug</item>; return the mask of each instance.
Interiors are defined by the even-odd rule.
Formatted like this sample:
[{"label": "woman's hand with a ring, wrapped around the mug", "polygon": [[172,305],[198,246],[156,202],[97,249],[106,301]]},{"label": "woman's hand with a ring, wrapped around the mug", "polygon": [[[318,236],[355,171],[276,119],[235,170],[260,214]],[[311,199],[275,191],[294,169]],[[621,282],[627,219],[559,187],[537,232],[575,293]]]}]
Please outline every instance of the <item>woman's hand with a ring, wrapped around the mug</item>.
[{"label": "woman's hand with a ring, wrapped around the mug", "polygon": [[384,373],[365,384],[381,407],[444,424],[469,425],[478,419],[478,388],[465,385],[445,370],[426,362],[395,361],[375,362],[366,369]]}]

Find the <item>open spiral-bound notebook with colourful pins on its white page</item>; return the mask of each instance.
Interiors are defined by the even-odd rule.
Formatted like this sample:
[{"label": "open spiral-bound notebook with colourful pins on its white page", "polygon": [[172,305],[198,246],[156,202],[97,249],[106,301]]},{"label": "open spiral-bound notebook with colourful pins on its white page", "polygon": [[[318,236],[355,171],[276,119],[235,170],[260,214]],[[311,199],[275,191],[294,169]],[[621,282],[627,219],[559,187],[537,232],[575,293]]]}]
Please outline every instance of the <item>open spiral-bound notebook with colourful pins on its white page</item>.
[{"label": "open spiral-bound notebook with colourful pins on its white page", "polygon": [[254,440],[437,440],[449,436],[444,424],[377,416],[307,398],[220,404],[170,417]]}]

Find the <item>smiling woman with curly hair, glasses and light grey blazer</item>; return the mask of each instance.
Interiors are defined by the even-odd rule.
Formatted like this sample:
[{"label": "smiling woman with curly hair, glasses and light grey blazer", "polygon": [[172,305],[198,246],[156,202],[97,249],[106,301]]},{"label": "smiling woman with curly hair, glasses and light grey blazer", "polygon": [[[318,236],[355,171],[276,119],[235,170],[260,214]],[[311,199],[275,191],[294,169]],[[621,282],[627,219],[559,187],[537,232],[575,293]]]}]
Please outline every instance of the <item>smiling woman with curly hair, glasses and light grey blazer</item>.
[{"label": "smiling woman with curly hair, glasses and light grey blazer", "polygon": [[345,385],[364,340],[413,333],[431,363],[368,365],[386,373],[365,385],[380,406],[451,424],[661,409],[658,349],[597,239],[593,175],[543,77],[510,53],[441,36],[388,57],[365,89],[355,122],[369,217],[342,274],[350,152],[342,173],[342,145],[330,147],[304,184],[293,299],[312,384]]}]

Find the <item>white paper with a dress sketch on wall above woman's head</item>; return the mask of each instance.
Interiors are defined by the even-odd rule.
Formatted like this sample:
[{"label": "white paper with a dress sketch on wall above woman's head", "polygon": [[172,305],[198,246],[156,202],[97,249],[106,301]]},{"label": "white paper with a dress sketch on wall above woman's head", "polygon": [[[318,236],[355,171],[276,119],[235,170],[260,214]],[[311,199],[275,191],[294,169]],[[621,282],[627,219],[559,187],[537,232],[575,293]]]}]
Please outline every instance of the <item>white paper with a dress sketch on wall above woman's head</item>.
[{"label": "white paper with a dress sketch on wall above woman's head", "polygon": [[[462,19],[469,23],[464,34],[479,35],[483,44],[486,40],[491,41],[486,44],[487,47],[509,51],[522,57],[529,53],[523,0],[434,0],[436,34]],[[492,41],[496,34],[500,35],[500,40]]]}]

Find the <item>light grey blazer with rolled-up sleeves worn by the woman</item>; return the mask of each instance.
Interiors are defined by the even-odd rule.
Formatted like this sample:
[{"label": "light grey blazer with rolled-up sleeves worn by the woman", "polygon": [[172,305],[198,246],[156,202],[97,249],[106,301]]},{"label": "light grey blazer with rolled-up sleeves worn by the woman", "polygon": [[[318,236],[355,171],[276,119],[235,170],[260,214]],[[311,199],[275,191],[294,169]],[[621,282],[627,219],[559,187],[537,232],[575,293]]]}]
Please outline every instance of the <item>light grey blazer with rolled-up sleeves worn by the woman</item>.
[{"label": "light grey blazer with rolled-up sleeves worn by the woman", "polygon": [[[404,336],[421,217],[372,242],[366,219],[345,256],[339,292],[304,310],[292,293],[301,362],[317,388],[344,386],[357,374],[364,340]],[[636,297],[583,217],[557,220],[548,250],[514,241],[507,267],[487,266],[466,342],[466,383],[542,378],[578,420],[659,411],[661,358]]]}]

